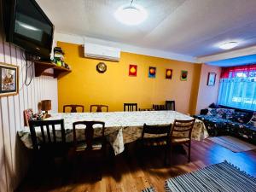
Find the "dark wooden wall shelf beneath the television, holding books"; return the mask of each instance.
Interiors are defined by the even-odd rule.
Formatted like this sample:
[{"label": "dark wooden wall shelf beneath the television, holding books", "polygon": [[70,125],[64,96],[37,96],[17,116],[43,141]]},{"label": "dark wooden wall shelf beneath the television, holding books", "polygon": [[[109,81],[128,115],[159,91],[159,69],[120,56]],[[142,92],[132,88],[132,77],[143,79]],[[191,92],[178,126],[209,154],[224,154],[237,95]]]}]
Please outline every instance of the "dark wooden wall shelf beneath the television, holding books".
[{"label": "dark wooden wall shelf beneath the television, holding books", "polygon": [[65,67],[58,67],[55,63],[46,61],[35,61],[35,76],[39,77],[41,75],[48,75],[49,73],[44,73],[46,69],[53,68],[54,73],[51,75],[54,78],[58,78],[61,73],[70,73],[71,70]]}]

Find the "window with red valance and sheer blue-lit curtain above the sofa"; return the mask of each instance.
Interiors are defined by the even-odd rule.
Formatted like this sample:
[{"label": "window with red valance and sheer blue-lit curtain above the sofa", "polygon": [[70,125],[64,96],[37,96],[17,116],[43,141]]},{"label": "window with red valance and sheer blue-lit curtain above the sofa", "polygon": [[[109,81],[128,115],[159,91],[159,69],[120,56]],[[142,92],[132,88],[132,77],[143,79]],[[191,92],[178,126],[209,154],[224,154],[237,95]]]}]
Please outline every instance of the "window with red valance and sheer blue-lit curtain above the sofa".
[{"label": "window with red valance and sheer blue-lit curtain above the sofa", "polygon": [[256,65],[223,68],[218,104],[256,111]]}]

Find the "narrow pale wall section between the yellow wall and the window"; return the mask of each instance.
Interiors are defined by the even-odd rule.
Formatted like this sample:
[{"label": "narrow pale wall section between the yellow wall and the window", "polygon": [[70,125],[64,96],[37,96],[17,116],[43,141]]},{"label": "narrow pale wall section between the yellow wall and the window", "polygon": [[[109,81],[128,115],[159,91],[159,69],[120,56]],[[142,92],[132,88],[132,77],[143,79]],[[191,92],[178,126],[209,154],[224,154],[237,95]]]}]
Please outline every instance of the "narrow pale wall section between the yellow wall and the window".
[{"label": "narrow pale wall section between the yellow wall and the window", "polygon": [[[217,74],[214,86],[207,86],[208,73],[210,72]],[[201,78],[195,113],[200,113],[202,108],[207,108],[212,102],[217,102],[220,73],[221,67],[214,67],[206,64],[201,66]]]}]

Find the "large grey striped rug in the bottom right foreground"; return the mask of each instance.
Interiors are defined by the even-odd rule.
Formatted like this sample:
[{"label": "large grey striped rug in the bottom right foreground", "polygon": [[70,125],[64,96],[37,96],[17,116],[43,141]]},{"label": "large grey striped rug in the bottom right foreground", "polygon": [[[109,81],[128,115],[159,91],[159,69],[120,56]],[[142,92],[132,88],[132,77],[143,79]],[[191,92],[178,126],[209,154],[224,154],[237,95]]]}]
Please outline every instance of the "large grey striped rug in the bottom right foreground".
[{"label": "large grey striped rug in the bottom right foreground", "polygon": [[255,192],[256,178],[227,161],[166,180],[166,192]]}]

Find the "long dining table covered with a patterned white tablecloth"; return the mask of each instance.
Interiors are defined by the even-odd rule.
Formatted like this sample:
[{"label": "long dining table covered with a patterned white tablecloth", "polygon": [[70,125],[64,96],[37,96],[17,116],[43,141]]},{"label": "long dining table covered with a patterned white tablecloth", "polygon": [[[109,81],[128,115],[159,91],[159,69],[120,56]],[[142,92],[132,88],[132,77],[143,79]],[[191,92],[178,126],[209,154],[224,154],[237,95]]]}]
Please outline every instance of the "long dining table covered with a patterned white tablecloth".
[{"label": "long dining table covered with a patterned white tablecloth", "polygon": [[[113,147],[115,155],[121,154],[125,150],[125,143],[137,141],[142,136],[143,125],[171,125],[175,119],[189,120],[193,119],[189,115],[177,111],[133,111],[133,112],[108,112],[108,113],[51,113],[51,119],[64,119],[66,131],[66,142],[73,142],[73,122],[84,120],[95,120],[105,122],[105,137],[108,143]],[[56,137],[61,140],[61,129],[55,127]],[[100,137],[102,130],[100,127],[94,127],[95,137]],[[59,131],[58,131],[59,130]],[[39,133],[39,132],[38,132]],[[175,137],[182,136],[174,133]],[[32,148],[32,140],[29,127],[24,127],[18,131],[21,141],[26,148]],[[38,140],[42,139],[39,134]],[[83,141],[84,126],[79,126],[76,131],[77,140]],[[202,141],[207,138],[208,132],[206,126],[200,119],[195,119],[195,125],[192,131],[192,139]]]}]

